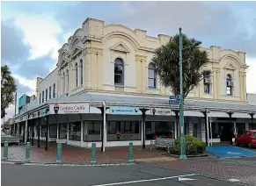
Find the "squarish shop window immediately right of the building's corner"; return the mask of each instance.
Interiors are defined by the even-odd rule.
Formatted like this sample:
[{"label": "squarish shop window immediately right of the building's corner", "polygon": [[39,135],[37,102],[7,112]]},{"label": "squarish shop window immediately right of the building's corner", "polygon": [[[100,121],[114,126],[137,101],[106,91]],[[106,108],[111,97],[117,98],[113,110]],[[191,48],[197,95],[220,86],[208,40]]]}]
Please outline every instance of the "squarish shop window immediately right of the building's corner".
[{"label": "squarish shop window immediately right of the building's corner", "polygon": [[84,122],[84,141],[100,141],[101,121]]}]

